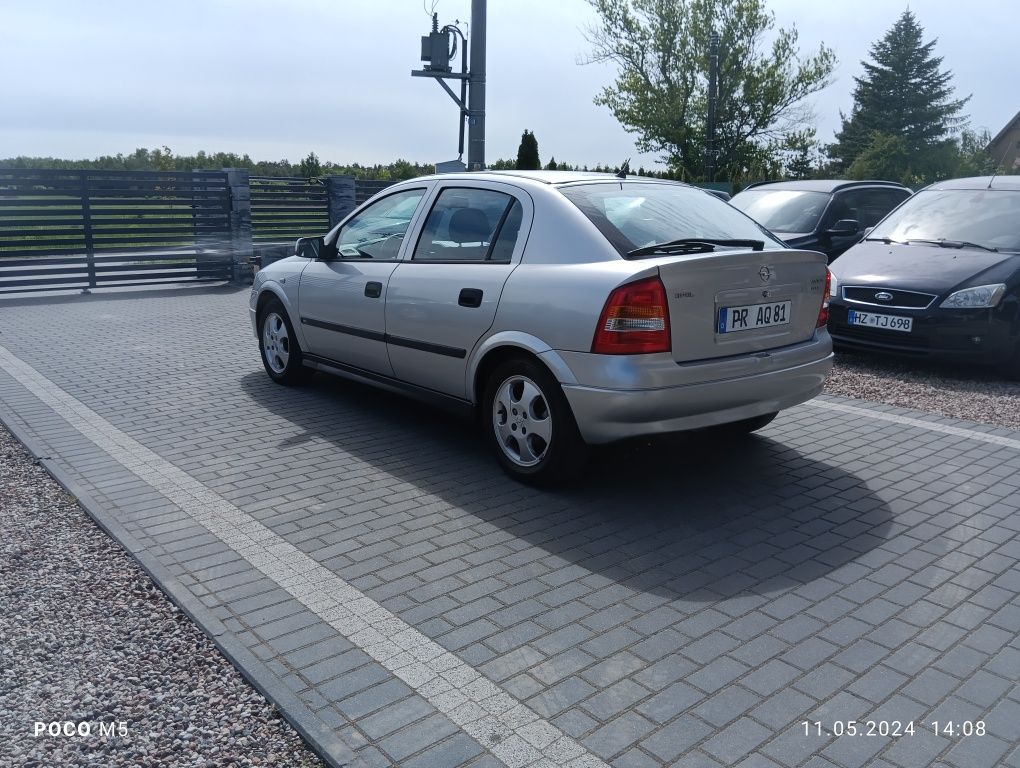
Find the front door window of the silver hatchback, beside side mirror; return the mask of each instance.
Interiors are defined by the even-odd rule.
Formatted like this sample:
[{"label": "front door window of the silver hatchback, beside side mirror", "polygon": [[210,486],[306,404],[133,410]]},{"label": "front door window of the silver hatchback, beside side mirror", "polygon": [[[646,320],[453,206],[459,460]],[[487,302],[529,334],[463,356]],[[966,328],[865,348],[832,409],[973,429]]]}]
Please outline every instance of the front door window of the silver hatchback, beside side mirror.
[{"label": "front door window of the silver hatchback, beside side mirror", "polygon": [[[406,190],[382,198],[350,221],[336,235],[341,258],[390,261],[400,253],[404,234],[418,209],[424,190]],[[326,239],[330,244],[330,239]]]}]

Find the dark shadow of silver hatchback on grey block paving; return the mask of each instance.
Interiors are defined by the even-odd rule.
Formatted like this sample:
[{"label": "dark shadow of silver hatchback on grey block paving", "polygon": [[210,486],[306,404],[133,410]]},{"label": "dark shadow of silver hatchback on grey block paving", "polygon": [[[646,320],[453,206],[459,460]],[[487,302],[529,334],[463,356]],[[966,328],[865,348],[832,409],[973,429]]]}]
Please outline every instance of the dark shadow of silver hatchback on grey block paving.
[{"label": "dark shadow of silver hatchback on grey block paving", "polygon": [[[364,462],[561,565],[674,601],[766,595],[830,574],[849,583],[865,570],[854,561],[891,527],[887,505],[861,478],[767,433],[603,447],[580,477],[543,490],[504,475],[466,419],[398,395],[323,375],[298,390],[261,372],[241,385],[293,425],[276,446],[283,454],[325,441],[338,474]],[[336,502],[338,517],[345,506]]]}]

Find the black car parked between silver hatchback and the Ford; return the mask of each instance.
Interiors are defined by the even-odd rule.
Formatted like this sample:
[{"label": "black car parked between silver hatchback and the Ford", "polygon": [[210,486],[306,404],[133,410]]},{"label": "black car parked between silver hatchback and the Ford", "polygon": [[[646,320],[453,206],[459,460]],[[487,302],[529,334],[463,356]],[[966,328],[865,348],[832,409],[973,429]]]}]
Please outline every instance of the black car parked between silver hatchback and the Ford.
[{"label": "black car parked between silver hatchback and the Ford", "polygon": [[787,245],[821,251],[831,263],[910,195],[892,182],[770,182],[748,187],[729,204]]}]

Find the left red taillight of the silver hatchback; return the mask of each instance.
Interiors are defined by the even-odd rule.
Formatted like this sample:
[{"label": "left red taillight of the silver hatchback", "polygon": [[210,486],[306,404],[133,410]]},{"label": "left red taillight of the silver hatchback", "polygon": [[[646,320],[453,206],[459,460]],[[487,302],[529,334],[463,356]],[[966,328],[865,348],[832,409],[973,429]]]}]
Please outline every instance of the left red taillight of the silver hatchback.
[{"label": "left red taillight of the silver hatchback", "polygon": [[592,352],[642,355],[669,350],[669,309],[662,280],[648,277],[614,290],[599,317]]}]

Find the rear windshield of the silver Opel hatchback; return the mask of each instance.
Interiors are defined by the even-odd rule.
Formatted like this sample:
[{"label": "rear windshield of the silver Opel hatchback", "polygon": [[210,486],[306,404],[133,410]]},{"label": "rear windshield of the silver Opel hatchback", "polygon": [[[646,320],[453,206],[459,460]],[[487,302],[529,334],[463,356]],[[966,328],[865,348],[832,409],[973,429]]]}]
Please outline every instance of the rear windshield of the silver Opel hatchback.
[{"label": "rear windshield of the silver Opel hatchback", "polygon": [[620,255],[683,238],[759,240],[785,246],[728,203],[693,187],[610,182],[561,187]]}]

